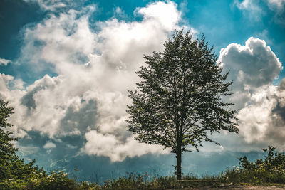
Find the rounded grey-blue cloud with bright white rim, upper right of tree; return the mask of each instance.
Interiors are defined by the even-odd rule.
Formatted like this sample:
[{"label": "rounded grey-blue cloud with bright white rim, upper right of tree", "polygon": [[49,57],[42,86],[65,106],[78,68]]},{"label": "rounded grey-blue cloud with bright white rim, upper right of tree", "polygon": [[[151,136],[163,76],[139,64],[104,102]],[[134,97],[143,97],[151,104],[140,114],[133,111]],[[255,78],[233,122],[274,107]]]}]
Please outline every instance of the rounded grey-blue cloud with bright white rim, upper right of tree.
[{"label": "rounded grey-blue cloud with bright white rim, upper right of tree", "polygon": [[245,46],[231,43],[227,48],[222,48],[219,61],[226,70],[232,68],[232,78],[251,88],[271,83],[282,69],[279,58],[270,46],[253,37],[245,42]]}]

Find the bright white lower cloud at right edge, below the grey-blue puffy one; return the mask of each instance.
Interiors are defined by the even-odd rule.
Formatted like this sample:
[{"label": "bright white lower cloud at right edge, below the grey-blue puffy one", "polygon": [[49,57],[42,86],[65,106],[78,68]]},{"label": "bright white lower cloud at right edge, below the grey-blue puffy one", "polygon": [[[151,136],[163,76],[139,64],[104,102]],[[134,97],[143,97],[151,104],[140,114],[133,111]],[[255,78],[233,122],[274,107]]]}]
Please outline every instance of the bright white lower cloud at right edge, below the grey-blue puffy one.
[{"label": "bright white lower cloud at right edge, below the grey-blue puffy one", "polygon": [[251,105],[239,111],[241,134],[248,143],[271,144],[284,150],[285,90],[271,86],[255,95],[258,97],[252,98]]}]

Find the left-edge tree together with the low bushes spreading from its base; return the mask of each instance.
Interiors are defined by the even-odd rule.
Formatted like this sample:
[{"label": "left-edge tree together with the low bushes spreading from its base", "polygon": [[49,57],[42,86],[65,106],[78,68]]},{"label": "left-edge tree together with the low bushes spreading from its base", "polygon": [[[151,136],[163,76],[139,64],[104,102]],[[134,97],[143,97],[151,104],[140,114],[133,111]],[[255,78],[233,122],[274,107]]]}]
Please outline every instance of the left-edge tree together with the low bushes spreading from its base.
[{"label": "left-edge tree together with the low bushes spreading from its base", "polygon": [[13,108],[0,100],[0,189],[75,189],[76,181],[68,179],[63,171],[47,173],[42,167],[34,166],[36,160],[25,163],[16,154],[12,144],[9,117]]}]

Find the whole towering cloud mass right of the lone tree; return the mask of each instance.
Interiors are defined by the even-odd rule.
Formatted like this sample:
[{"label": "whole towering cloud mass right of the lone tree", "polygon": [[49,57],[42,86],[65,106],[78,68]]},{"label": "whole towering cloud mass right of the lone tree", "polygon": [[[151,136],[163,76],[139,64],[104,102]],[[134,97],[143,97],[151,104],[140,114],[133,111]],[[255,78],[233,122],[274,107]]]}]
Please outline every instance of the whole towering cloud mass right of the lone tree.
[{"label": "whole towering cloud mass right of the lone tree", "polygon": [[239,110],[239,133],[248,144],[284,147],[285,79],[272,85],[283,68],[265,41],[249,38],[245,46],[229,44],[220,52],[219,61],[230,70],[234,80],[231,101]]}]

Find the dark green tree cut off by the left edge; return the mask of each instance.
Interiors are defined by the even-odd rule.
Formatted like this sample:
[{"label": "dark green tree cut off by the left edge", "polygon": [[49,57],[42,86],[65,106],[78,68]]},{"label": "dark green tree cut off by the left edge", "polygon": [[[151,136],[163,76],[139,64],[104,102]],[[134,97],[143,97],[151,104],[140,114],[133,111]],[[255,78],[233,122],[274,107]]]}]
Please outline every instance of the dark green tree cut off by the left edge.
[{"label": "dark green tree cut off by the left edge", "polygon": [[8,102],[0,100],[0,189],[16,189],[13,186],[15,181],[27,182],[34,176],[46,175],[43,168],[33,166],[36,160],[24,163],[24,159],[19,159],[16,154],[18,149],[12,142],[17,138],[11,137],[13,133],[9,131],[9,127],[13,125],[8,122],[13,110],[13,107],[8,107]]}]

